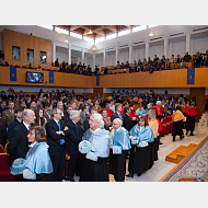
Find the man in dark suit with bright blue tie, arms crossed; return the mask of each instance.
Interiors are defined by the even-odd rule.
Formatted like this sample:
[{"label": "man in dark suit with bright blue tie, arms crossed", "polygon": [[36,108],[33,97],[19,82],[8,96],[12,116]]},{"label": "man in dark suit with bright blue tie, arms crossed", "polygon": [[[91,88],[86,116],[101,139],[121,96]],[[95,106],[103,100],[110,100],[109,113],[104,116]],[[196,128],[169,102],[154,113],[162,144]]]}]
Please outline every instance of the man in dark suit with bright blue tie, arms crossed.
[{"label": "man in dark suit with bright blue tie, arms crossed", "polygon": [[61,115],[62,112],[55,107],[51,111],[53,119],[46,123],[48,151],[54,166],[55,182],[62,182],[62,172],[65,169],[66,147],[62,130],[66,127],[66,123],[61,120]]}]

